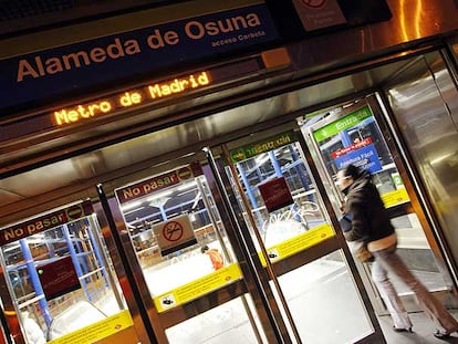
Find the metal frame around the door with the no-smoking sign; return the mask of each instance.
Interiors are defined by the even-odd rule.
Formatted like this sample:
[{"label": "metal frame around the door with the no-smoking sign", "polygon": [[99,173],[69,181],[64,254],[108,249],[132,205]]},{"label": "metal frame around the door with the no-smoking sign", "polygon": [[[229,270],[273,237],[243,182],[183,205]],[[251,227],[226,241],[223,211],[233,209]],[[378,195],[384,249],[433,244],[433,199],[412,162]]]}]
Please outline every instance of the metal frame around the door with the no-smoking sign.
[{"label": "metal frame around the door with the no-smoking sign", "polygon": [[[272,311],[272,307],[275,305],[272,304],[270,302],[270,298],[267,296],[271,294],[269,291],[269,285],[262,285],[262,283],[260,283],[260,281],[263,281],[264,279],[260,279],[258,274],[263,273],[263,271],[262,269],[257,269],[252,257],[248,253],[249,250],[246,248],[247,242],[240,236],[240,219],[237,219],[237,217],[231,212],[232,209],[228,207],[228,205],[230,205],[230,201],[226,198],[226,194],[220,192],[221,190],[219,189],[219,186],[221,184],[218,180],[220,176],[215,175],[217,166],[212,165],[214,160],[209,155],[211,155],[211,153],[208,149],[205,149],[205,152],[195,152],[195,154],[187,154],[176,159],[169,160],[166,164],[158,164],[152,169],[148,169],[149,174],[146,175],[153,176],[156,173],[170,170],[191,161],[201,161],[204,176],[215,199],[220,220],[223,223],[223,227],[227,229],[227,237],[231,242],[233,252],[240,265],[240,270],[242,271],[243,279],[235,281],[189,302],[171,307],[167,310],[167,312],[157,312],[154,305],[153,295],[149,293],[142,268],[133,249],[131,238],[127,234],[127,228],[124,222],[121,209],[117,205],[116,199],[112,195],[113,189],[111,189],[110,192],[105,194],[102,185],[97,185],[96,187],[98,197],[102,202],[103,212],[108,220],[110,231],[113,233],[113,237],[115,239],[117,238],[117,241],[115,240],[115,244],[125,253],[121,257],[123,264],[126,265],[127,271],[132,271],[132,275],[128,282],[129,284],[135,284],[133,285],[132,290],[134,293],[136,293],[136,299],[142,304],[142,307],[145,309],[146,315],[142,315],[143,322],[146,322],[148,323],[148,326],[152,326],[152,331],[148,332],[148,334],[152,336],[150,340],[153,342],[168,343],[166,335],[166,330],[168,327],[175,326],[188,319],[204,313],[205,311],[214,309],[239,296],[243,298],[247,293],[249,293],[253,300],[253,304],[258,305],[257,312],[260,320],[260,325],[262,326],[264,331],[263,333],[269,343],[291,343],[284,335],[287,333],[287,326],[284,322],[281,317],[277,316],[279,312]],[[145,171],[143,171],[140,175],[144,177]],[[138,176],[135,175],[133,175],[132,178],[128,176],[123,177],[123,181],[132,179],[132,183],[137,180],[137,177]],[[113,186],[110,186],[110,188],[112,187]],[[107,187],[105,186],[105,189]],[[202,195],[202,197],[206,196]],[[253,323],[251,324],[254,325]],[[258,329],[254,329],[253,331],[256,334]]]}]

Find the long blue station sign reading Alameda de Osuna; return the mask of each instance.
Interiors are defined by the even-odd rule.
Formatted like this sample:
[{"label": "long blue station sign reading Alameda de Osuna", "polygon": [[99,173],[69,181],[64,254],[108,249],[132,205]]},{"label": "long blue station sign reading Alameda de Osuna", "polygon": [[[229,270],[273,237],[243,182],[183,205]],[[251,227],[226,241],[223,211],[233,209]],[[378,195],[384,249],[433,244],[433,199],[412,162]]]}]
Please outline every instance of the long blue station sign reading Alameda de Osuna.
[{"label": "long blue station sign reading Alameda de Osuna", "polygon": [[56,97],[278,39],[266,4],[187,18],[0,61],[0,107]]}]

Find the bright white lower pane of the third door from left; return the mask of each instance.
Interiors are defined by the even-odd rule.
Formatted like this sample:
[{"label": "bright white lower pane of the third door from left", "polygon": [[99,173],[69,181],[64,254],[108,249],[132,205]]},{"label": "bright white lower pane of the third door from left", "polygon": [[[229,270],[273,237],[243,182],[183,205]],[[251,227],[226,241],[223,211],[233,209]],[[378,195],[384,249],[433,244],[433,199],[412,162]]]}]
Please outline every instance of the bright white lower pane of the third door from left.
[{"label": "bright white lower pane of the third door from left", "polygon": [[279,280],[303,343],[356,343],[373,332],[341,251]]}]

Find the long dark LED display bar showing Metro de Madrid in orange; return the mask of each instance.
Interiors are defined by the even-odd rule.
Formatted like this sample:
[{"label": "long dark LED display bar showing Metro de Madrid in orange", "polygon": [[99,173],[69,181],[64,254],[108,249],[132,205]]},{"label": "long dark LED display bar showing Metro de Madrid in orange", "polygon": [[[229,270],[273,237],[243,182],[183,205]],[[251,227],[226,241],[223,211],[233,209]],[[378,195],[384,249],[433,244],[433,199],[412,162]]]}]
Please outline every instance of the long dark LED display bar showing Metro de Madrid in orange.
[{"label": "long dark LED display bar showing Metro de Madrid in orange", "polygon": [[[278,54],[274,54],[275,51],[278,50],[268,51],[261,55],[269,56],[273,53],[275,58],[278,56]],[[268,66],[264,63],[269,63],[269,66],[272,67],[269,58],[261,58],[261,55],[215,65],[207,71],[194,71],[192,73],[178,74],[165,80],[149,81],[135,88],[111,92],[103,98],[69,104],[65,107],[58,107],[24,121],[10,122],[3,124],[3,129],[0,131],[0,142],[53,128],[70,127],[77,123],[89,123],[92,119],[113,116],[135,106],[150,105],[164,100],[179,97],[189,92],[199,92],[266,70]],[[277,64],[273,64],[273,67],[277,67]]]}]

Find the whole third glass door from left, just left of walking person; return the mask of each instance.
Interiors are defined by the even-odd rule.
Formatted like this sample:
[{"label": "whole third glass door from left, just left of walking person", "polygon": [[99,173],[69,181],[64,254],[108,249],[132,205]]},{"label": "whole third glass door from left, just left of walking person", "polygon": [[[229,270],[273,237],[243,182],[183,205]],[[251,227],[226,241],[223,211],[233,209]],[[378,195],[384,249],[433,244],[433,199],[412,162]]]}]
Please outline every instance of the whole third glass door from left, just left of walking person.
[{"label": "whole third glass door from left, just left of walking person", "polygon": [[293,342],[383,343],[300,132],[253,133],[214,154]]}]

